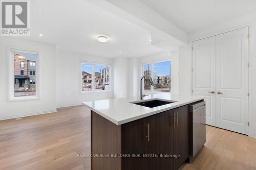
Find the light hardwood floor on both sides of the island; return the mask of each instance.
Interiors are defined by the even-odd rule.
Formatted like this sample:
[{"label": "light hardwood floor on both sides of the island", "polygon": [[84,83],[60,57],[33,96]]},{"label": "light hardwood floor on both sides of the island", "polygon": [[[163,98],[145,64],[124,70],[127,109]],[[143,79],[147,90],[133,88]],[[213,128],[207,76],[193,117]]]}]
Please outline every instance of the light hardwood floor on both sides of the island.
[{"label": "light hardwood floor on both sides of the island", "polygon": [[[256,169],[256,139],[207,126],[206,144],[187,169]],[[0,121],[0,169],[90,169],[90,110]]]}]

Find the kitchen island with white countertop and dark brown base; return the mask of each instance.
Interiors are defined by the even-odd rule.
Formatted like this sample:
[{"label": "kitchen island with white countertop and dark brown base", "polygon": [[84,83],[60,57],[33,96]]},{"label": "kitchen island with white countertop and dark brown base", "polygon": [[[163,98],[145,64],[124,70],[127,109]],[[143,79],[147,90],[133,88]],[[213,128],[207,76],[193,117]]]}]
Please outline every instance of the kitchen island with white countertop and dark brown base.
[{"label": "kitchen island with white countertop and dark brown base", "polygon": [[83,102],[91,109],[92,169],[178,169],[193,147],[189,105],[203,100],[155,93],[143,102]]}]

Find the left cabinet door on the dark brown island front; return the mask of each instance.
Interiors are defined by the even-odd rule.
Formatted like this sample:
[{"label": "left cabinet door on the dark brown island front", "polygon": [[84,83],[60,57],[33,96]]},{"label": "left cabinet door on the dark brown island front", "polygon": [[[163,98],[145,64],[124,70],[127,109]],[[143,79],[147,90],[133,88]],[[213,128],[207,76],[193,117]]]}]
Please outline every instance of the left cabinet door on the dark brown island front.
[{"label": "left cabinet door on the dark brown island front", "polygon": [[[122,169],[148,170],[148,158],[142,157],[148,153],[148,117],[135,120],[121,126],[121,153],[131,157],[121,159]],[[136,154],[133,155],[132,154]],[[136,157],[136,156],[141,157]]]}]

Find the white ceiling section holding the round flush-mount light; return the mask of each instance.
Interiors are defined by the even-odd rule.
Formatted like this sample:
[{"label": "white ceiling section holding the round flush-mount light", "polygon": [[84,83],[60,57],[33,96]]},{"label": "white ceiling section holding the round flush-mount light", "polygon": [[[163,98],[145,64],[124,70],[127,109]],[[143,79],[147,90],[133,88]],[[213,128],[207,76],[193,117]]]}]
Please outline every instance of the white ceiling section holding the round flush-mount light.
[{"label": "white ceiling section holding the round flush-mount light", "polygon": [[[107,36],[109,41],[97,41],[99,35]],[[83,0],[31,1],[31,36],[25,38],[109,58],[142,57],[163,51],[151,45],[150,32]]]}]

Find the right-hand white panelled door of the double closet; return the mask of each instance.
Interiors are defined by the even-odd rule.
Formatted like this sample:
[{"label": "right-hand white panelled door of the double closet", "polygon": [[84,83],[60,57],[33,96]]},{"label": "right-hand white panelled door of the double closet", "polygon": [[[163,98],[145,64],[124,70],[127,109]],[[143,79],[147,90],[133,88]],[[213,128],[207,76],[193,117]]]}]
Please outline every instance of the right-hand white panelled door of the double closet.
[{"label": "right-hand white panelled door of the double closet", "polygon": [[248,134],[248,28],[216,36],[216,126]]}]

